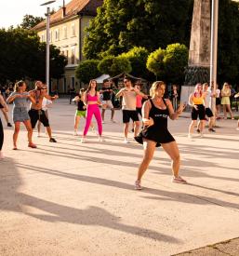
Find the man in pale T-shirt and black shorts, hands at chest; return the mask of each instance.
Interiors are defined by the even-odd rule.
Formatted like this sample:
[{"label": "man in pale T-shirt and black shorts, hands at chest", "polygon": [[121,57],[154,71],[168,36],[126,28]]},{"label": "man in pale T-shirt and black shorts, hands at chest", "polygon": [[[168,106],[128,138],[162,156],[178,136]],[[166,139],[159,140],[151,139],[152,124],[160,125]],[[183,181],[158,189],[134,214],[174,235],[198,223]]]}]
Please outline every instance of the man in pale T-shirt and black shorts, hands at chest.
[{"label": "man in pale T-shirt and black shorts, hands at chest", "polygon": [[132,81],[129,77],[124,79],[125,88],[122,88],[117,94],[116,97],[123,97],[122,101],[122,111],[123,111],[123,123],[124,134],[125,134],[125,143],[129,143],[127,139],[129,120],[132,119],[134,122],[134,137],[138,136],[139,133],[139,115],[136,110],[136,96],[143,94],[139,91],[138,88],[133,88]]}]

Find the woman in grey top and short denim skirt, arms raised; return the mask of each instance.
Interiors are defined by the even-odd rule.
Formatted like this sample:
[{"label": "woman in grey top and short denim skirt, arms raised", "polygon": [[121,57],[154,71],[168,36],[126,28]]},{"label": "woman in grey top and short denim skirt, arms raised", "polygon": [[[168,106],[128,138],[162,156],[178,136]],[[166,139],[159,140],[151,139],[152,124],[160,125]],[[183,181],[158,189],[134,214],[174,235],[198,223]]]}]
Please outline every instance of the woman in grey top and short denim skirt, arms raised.
[{"label": "woman in grey top and short denim skirt, arms raised", "polygon": [[13,150],[17,150],[17,141],[20,132],[20,123],[23,123],[28,133],[28,146],[31,148],[36,148],[36,145],[33,143],[33,128],[30,122],[30,117],[27,112],[28,102],[30,99],[35,103],[33,97],[26,92],[26,84],[24,81],[20,80],[15,84],[14,91],[7,98],[7,102],[10,103],[13,101],[13,110],[12,110],[12,119],[14,122],[14,133],[13,133]]}]

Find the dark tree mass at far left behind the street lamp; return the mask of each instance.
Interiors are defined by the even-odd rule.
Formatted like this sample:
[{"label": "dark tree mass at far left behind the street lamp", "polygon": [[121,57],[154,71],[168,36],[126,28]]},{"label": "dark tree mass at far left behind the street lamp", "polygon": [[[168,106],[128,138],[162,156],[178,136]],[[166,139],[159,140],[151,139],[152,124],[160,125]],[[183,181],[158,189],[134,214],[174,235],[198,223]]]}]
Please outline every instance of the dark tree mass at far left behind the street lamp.
[{"label": "dark tree mass at far left behind the street lamp", "polygon": [[[57,47],[50,47],[50,74],[59,78],[64,72],[66,60]],[[45,80],[46,44],[39,41],[37,34],[24,29],[0,30],[0,79]]]}]

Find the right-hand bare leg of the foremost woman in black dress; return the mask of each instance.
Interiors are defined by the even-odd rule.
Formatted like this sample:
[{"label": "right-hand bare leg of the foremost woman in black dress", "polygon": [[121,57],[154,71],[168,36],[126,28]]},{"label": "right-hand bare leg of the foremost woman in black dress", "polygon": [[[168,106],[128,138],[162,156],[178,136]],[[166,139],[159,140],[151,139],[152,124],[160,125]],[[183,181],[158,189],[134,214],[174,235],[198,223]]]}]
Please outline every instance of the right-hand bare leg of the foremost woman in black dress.
[{"label": "right-hand bare leg of the foremost woman in black dress", "polygon": [[170,156],[172,159],[172,172],[174,177],[179,177],[179,168],[180,168],[180,155],[179,155],[179,148],[176,141],[172,141],[169,143],[162,144],[162,147],[166,151],[166,154]]}]

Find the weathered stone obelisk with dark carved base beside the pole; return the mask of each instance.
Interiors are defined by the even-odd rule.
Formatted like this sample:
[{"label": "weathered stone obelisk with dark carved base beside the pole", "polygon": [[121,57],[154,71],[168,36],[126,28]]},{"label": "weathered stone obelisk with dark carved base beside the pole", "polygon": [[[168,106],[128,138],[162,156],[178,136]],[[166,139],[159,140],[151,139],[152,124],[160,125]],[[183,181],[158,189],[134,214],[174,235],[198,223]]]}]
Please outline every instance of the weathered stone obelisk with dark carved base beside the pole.
[{"label": "weathered stone obelisk with dark carved base beside the pole", "polygon": [[193,22],[185,85],[181,101],[188,101],[196,83],[209,82],[210,67],[210,0],[194,0]]}]

